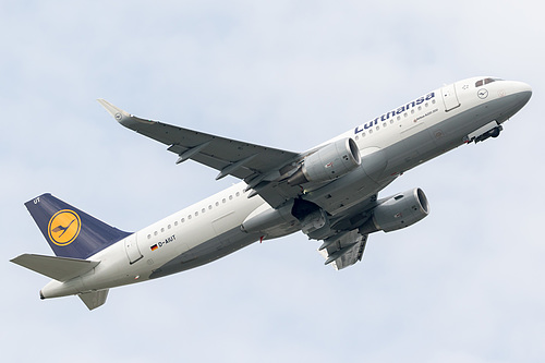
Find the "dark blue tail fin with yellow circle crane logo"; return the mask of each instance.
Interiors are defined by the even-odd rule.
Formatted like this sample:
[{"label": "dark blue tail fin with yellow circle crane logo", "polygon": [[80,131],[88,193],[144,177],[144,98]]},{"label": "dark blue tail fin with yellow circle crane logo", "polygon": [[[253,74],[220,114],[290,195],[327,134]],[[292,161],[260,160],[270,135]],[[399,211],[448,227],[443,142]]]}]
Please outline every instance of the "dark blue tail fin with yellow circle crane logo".
[{"label": "dark blue tail fin with yellow circle crane logo", "polygon": [[60,257],[85,259],[131,233],[74,208],[51,194],[25,203],[36,225]]}]

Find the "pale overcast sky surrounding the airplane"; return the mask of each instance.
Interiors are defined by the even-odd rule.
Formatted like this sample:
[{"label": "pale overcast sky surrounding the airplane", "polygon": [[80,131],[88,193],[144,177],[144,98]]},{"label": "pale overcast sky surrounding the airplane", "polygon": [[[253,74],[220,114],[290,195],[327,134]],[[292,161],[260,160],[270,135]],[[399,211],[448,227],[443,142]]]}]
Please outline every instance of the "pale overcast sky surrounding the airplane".
[{"label": "pale overcast sky surrounding the airplane", "polygon": [[[535,1],[0,2],[5,362],[543,362],[545,24]],[[234,179],[121,128],[96,102],[294,152],[443,84],[529,83],[499,138],[399,178],[423,221],[324,266],[302,233],[112,289],[40,301],[9,263],[52,254],[24,203],[50,192],[135,231]]]}]

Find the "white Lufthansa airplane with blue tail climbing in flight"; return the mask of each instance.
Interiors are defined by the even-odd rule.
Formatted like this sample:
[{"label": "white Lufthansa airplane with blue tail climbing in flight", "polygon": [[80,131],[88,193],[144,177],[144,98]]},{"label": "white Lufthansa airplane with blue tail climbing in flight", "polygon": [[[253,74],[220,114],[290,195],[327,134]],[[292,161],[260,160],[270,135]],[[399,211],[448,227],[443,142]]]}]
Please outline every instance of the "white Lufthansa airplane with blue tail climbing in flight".
[{"label": "white Lufthansa airplane with blue tail climbing in flight", "polygon": [[110,288],[184,271],[256,241],[296,231],[322,241],[325,264],[362,261],[371,233],[409,227],[429,214],[415,187],[378,198],[403,172],[463,144],[499,135],[531,98],[522,82],[459,81],[413,98],[303,153],[282,150],[135,117],[99,99],[123,126],[242,181],[137,232],[111,227],[44,194],[25,204],[56,256],[11,262],[52,280],[41,299],[77,295],[89,310]]}]

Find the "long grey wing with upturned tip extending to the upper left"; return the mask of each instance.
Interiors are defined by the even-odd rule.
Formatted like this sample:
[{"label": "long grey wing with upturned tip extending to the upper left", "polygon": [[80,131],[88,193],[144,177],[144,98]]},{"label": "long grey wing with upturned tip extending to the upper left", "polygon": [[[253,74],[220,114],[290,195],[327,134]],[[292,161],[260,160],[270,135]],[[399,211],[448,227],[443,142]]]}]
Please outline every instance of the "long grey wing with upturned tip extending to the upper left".
[{"label": "long grey wing with upturned tip extending to the upper left", "polygon": [[294,170],[299,153],[244,143],[183,129],[130,114],[104,99],[98,100],[123,126],[168,145],[178,154],[177,164],[187,159],[219,170],[216,179],[233,176],[242,179],[272,207],[295,197],[301,191],[288,185],[283,174]]}]

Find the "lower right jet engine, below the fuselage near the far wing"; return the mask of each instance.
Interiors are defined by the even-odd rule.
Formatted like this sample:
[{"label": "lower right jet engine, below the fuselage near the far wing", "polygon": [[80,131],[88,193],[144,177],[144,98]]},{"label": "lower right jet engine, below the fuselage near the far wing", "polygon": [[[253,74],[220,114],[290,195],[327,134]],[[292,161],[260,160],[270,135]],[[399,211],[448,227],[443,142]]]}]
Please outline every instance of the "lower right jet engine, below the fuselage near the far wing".
[{"label": "lower right jet engine, below the fuselage near the far wing", "polygon": [[361,233],[396,231],[414,225],[429,214],[429,204],[420,187],[378,201],[378,203],[379,205],[373,209],[373,216],[360,228]]}]

